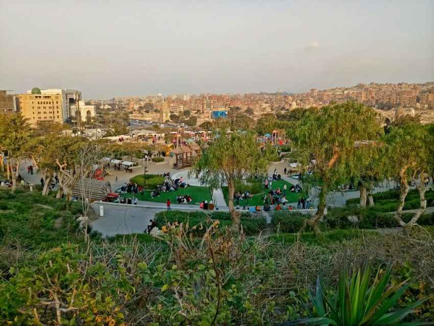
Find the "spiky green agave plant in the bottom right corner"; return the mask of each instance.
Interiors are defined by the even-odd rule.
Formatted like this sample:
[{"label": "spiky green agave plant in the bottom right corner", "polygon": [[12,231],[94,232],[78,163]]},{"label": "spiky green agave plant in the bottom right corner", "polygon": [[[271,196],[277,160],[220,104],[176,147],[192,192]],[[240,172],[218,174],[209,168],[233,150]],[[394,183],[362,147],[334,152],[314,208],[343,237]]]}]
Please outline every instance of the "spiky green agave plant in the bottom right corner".
[{"label": "spiky green agave plant in the bottom right corner", "polygon": [[392,286],[390,285],[390,278],[393,265],[389,265],[385,271],[378,269],[373,284],[369,286],[372,259],[366,259],[358,269],[354,268],[351,278],[349,277],[348,264],[345,253],[343,264],[340,266],[337,291],[327,291],[323,277],[318,276],[316,294],[315,296],[310,294],[314,306],[314,310],[309,311],[311,318],[287,321],[280,325],[415,326],[433,324],[423,321],[402,321],[407,314],[414,312],[414,309],[430,296],[420,299],[404,309],[393,309],[399,297],[416,278]]}]

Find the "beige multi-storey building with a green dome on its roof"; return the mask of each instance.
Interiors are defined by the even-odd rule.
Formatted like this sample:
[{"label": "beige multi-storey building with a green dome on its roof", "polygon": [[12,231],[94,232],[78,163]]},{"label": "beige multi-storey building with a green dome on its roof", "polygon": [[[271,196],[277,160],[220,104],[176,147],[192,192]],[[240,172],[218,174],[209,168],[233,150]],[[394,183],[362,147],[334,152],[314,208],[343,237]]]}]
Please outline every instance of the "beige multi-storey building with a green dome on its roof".
[{"label": "beige multi-storey building with a green dome on its roof", "polygon": [[36,127],[38,123],[63,123],[62,97],[57,95],[42,95],[39,88],[33,88],[32,94],[19,94],[19,109],[23,118]]}]

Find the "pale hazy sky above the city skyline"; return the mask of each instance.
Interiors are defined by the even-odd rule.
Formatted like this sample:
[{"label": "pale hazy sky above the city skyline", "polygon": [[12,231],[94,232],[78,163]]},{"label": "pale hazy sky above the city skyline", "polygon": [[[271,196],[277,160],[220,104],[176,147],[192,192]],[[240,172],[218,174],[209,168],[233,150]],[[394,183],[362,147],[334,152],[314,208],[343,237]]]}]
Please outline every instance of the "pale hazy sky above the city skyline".
[{"label": "pale hazy sky above the city skyline", "polygon": [[0,0],[0,89],[83,98],[434,81],[434,1]]}]

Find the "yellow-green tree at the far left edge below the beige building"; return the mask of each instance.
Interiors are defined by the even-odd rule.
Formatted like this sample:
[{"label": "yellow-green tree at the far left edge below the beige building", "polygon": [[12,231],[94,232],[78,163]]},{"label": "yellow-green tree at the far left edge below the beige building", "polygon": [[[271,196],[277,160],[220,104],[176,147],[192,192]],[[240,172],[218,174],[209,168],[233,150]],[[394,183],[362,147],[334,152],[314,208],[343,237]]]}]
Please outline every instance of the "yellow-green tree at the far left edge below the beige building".
[{"label": "yellow-green tree at the far left edge below the beige building", "polygon": [[25,148],[31,139],[32,132],[30,124],[21,113],[0,114],[0,144],[8,151],[8,175],[10,160],[12,159],[16,165],[16,171],[12,171],[12,192],[16,189],[19,166],[23,157],[26,156]]}]

